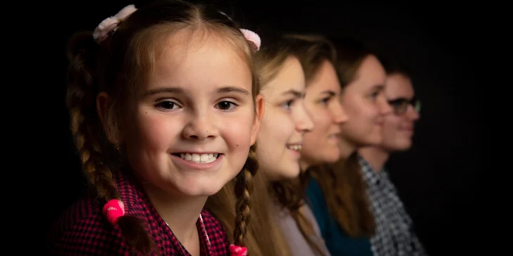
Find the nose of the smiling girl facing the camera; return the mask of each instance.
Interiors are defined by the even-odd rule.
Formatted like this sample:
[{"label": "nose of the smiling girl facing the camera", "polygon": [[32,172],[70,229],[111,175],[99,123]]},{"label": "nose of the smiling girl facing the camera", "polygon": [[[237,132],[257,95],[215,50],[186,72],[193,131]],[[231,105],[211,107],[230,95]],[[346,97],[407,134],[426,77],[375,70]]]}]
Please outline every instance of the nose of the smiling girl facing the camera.
[{"label": "nose of the smiling girl facing the camera", "polygon": [[209,113],[194,113],[183,129],[185,139],[204,140],[218,136],[216,124]]}]

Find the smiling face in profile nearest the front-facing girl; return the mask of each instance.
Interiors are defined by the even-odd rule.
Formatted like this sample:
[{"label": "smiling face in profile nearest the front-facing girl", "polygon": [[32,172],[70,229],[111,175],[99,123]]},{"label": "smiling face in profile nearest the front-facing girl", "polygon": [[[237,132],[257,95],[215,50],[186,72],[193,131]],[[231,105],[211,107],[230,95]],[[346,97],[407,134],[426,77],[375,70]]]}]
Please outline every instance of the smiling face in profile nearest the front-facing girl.
[{"label": "smiling face in profile nearest the front-facing girl", "polygon": [[269,179],[299,176],[299,158],[304,134],[313,124],[304,109],[304,72],[295,57],[289,57],[276,77],[262,84],[266,110],[257,138],[257,160]]}]

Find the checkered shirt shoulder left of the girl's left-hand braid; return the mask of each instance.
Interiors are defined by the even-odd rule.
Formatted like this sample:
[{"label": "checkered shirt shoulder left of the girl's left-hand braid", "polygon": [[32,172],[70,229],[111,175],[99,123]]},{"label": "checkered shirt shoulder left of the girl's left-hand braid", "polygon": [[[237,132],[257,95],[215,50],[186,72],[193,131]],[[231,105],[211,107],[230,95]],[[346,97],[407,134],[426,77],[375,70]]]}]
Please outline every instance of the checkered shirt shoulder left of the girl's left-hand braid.
[{"label": "checkered shirt shoulder left of the girl's left-hand braid", "polygon": [[47,237],[52,255],[120,255],[128,252],[120,229],[101,214],[93,198],[82,198],[63,212]]}]

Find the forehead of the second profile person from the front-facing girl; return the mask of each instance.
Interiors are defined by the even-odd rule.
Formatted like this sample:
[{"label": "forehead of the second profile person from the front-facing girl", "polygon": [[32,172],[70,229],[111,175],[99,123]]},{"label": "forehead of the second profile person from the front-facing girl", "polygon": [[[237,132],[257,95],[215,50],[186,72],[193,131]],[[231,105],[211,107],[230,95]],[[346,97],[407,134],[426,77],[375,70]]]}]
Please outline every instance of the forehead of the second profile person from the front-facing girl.
[{"label": "forehead of the second profile person from the front-facing girl", "polygon": [[340,82],[338,82],[337,73],[328,60],[323,61],[314,79],[308,85],[307,91],[307,94],[319,94],[323,91],[340,93]]}]

